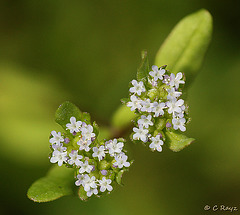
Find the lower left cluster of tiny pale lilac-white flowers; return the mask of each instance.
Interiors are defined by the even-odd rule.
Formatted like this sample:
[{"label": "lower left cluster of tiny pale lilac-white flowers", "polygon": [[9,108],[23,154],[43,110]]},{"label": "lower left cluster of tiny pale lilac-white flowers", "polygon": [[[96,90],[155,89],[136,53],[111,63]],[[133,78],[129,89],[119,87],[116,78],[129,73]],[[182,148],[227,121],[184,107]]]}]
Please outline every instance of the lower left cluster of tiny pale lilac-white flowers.
[{"label": "lower left cluster of tiny pale lilac-white flowers", "polygon": [[[111,192],[112,183],[120,171],[130,167],[128,156],[124,153],[124,140],[113,139],[99,143],[93,126],[70,118],[66,132],[52,131],[51,163],[66,164],[76,170],[76,186],[82,186],[87,197],[100,192]],[[99,188],[99,189],[98,189]],[[99,196],[98,195],[98,196]]]}]

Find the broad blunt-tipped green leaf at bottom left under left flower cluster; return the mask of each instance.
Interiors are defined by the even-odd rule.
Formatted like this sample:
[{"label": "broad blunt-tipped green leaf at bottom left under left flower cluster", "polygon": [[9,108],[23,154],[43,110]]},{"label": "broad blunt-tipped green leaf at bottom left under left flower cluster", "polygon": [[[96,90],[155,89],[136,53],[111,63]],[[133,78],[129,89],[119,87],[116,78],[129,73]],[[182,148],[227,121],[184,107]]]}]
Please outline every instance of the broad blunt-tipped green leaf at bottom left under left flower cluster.
[{"label": "broad blunt-tipped green leaf at bottom left under left flower cluster", "polygon": [[54,166],[47,176],[31,185],[27,196],[34,202],[49,202],[62,196],[72,195],[73,186],[73,169]]}]

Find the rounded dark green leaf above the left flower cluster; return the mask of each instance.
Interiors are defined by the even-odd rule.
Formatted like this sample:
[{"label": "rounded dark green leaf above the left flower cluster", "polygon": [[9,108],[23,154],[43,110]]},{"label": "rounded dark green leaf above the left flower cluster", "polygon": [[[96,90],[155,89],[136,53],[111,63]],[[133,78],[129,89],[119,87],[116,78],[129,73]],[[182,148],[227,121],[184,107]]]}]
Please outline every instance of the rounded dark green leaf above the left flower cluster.
[{"label": "rounded dark green leaf above the left flower cluster", "polygon": [[83,114],[79,108],[71,102],[64,102],[55,113],[55,121],[66,129],[66,124],[70,123],[70,118],[74,116],[76,120],[82,120]]}]

